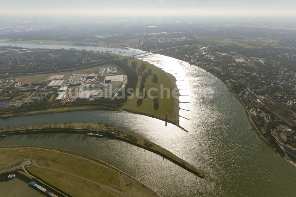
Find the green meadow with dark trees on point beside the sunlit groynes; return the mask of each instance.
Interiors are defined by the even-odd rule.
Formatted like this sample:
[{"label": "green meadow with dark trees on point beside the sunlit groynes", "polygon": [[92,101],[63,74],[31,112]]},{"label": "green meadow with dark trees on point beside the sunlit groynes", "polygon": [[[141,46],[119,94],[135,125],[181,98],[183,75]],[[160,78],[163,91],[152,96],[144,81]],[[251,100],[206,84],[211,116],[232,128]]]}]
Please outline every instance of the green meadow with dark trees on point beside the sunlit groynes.
[{"label": "green meadow with dark trees on point beside the sunlit groynes", "polygon": [[[161,95],[160,94],[160,84],[163,84],[164,88],[170,89],[170,99],[168,99],[168,97],[167,97],[168,96],[167,91],[164,91],[163,99],[159,98],[159,109],[157,111],[153,109],[153,106],[154,106],[153,99],[148,98],[148,96],[146,99],[144,99],[141,106],[137,106],[138,99],[136,98],[136,96],[134,96],[134,98],[128,99],[126,101],[126,103],[123,105],[123,107],[133,110],[135,112],[146,113],[146,114],[150,114],[150,115],[154,115],[154,116],[158,116],[158,117],[163,117],[163,118],[165,117],[165,114],[167,113],[168,118],[172,119],[173,118],[174,98],[172,97],[171,92],[174,87],[173,87],[172,81],[171,81],[170,77],[168,76],[168,74],[165,73],[160,68],[158,68],[152,64],[149,64],[147,62],[141,61],[139,59],[130,59],[128,61],[129,66],[131,66],[132,61],[137,62],[137,68],[139,68],[142,63],[147,64],[147,68],[145,71],[147,72],[148,69],[152,69],[152,75],[156,74],[158,76],[157,83],[154,83],[152,81],[152,79],[153,79],[152,75],[147,78],[147,80],[145,82],[146,91],[148,91],[149,88],[157,88],[158,89],[157,94],[160,97],[160,95]],[[140,86],[141,86],[140,85],[141,78],[142,78],[142,76],[140,75],[138,77],[137,88],[140,88]],[[155,91],[151,92],[152,96],[153,96],[154,92]],[[136,92],[134,92],[134,93],[136,93]]]}]

